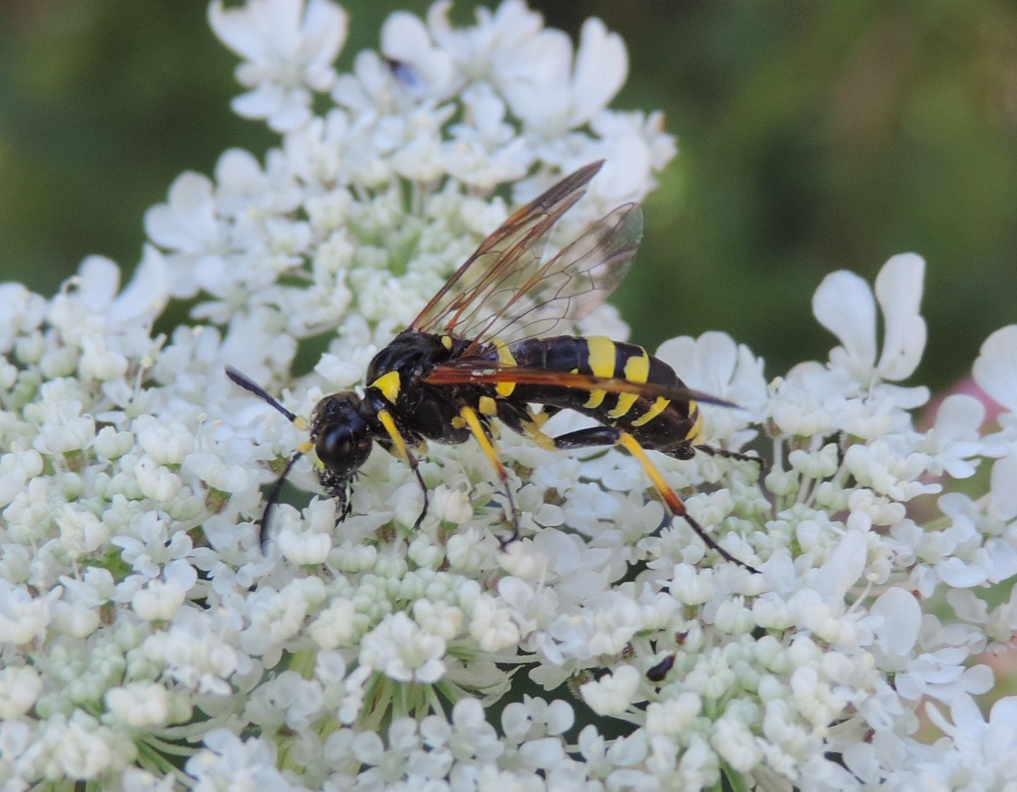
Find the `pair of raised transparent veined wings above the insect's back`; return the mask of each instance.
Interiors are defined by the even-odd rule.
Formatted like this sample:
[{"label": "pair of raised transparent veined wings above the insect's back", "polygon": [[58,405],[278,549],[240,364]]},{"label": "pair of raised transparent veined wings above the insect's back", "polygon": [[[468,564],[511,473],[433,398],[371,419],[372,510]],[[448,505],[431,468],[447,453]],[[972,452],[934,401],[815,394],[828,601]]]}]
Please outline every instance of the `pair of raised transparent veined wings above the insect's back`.
[{"label": "pair of raised transparent veined wings above the insect's back", "polygon": [[642,210],[625,204],[542,261],[547,232],[586,192],[603,163],[555,184],[481,243],[410,325],[471,339],[465,352],[497,338],[547,334],[586,316],[621,283],[643,230]]}]

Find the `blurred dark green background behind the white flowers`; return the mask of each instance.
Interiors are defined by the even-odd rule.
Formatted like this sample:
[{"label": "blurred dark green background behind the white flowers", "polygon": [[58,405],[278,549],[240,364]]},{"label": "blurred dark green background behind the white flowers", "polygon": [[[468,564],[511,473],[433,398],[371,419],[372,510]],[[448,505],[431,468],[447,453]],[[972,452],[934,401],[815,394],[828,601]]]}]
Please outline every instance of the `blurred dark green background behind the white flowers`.
[{"label": "blurred dark green background behind the white flowers", "polygon": [[[386,13],[428,3],[345,5],[348,68]],[[950,384],[1017,321],[1014,3],[532,5],[574,37],[590,15],[620,33],[614,107],[663,109],[678,137],[614,298],[635,340],[724,329],[773,376],[832,346],[823,276],[872,280],[906,250],[928,260],[918,379]],[[196,0],[0,4],[0,280],[50,294],[86,254],[133,265],[177,174],[261,156],[275,138],[229,109],[236,63]]]}]

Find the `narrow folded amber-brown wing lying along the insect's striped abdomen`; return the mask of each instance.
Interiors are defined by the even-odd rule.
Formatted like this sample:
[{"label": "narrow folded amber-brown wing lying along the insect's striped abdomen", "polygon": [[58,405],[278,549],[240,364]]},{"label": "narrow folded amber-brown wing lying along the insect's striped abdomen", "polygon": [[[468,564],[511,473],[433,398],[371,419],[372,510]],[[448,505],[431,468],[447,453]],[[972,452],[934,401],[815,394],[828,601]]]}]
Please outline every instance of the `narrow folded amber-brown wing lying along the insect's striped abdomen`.
[{"label": "narrow folded amber-brown wing lying along the insect's striped abdomen", "polygon": [[637,393],[648,399],[670,399],[672,402],[699,402],[704,405],[737,408],[732,402],[719,399],[684,385],[662,385],[656,382],[633,382],[617,377],[595,377],[569,371],[527,368],[498,363],[486,358],[458,358],[435,366],[424,378],[432,385],[481,385],[514,382],[517,385],[571,387],[577,390],[606,390],[608,393]]}]

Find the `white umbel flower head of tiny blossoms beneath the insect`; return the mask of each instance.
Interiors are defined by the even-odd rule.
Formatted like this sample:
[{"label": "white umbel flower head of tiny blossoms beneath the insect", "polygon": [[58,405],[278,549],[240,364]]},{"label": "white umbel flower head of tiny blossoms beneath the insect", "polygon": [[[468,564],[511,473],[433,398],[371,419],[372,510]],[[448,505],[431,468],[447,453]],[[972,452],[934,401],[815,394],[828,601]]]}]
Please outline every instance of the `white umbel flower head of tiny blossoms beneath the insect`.
[{"label": "white umbel flower head of tiny blossoms beneath the insect", "polygon": [[[768,381],[722,332],[657,351],[741,407],[704,407],[712,444],[764,451],[762,479],[656,461],[759,574],[665,521],[631,456],[510,432],[507,548],[466,443],[422,460],[419,530],[416,479],[375,449],[349,519],[327,497],[283,505],[262,555],[259,485],[306,438],[225,365],[309,415],[512,209],[606,160],[560,246],[674,154],[659,114],[608,109],[625,51],[599,20],[574,46],[522,2],[466,27],[448,10],[394,14],[340,74],[349,20],[328,0],[213,3],[235,110],[279,146],[180,176],[123,289],[101,257],[51,299],[0,287],[3,789],[1013,787],[1017,705],[985,716],[973,696],[1017,624],[1017,599],[981,597],[1017,573],[1017,326],[973,367],[999,427],[951,395],[921,428],[913,254],[875,293],[849,272],[819,286],[825,362]],[[179,299],[191,322],[154,334]],[[607,308],[578,330],[625,332]],[[979,465],[988,484],[962,494]],[[314,490],[309,466],[295,480]]]}]

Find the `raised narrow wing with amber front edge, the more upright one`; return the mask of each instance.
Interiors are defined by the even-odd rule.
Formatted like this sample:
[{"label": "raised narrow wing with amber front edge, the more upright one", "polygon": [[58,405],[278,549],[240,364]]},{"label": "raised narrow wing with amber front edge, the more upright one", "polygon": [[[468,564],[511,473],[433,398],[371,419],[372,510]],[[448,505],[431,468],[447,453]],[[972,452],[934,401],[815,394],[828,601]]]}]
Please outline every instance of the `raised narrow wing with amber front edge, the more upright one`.
[{"label": "raised narrow wing with amber front edge, the more upright one", "polygon": [[540,248],[546,232],[583,196],[602,165],[600,161],[579,169],[517,210],[480,243],[410,326],[469,338],[467,328],[489,321],[503,308],[495,296],[511,296],[508,284],[532,278],[540,262],[535,248]]}]

